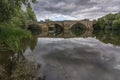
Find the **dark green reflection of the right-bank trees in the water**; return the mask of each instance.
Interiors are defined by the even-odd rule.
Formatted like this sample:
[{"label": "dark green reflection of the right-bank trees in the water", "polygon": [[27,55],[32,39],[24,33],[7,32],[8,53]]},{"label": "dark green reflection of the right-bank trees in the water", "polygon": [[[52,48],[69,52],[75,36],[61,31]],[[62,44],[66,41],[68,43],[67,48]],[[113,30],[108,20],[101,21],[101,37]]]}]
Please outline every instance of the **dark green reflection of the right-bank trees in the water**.
[{"label": "dark green reflection of the right-bank trees in the water", "polygon": [[120,45],[120,33],[117,31],[94,31],[97,39],[104,43],[111,43],[113,45]]}]

